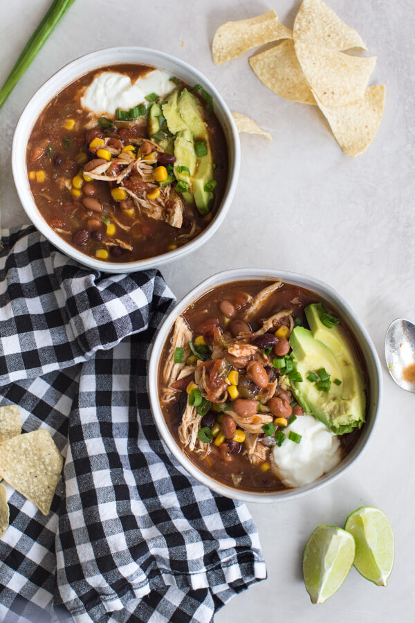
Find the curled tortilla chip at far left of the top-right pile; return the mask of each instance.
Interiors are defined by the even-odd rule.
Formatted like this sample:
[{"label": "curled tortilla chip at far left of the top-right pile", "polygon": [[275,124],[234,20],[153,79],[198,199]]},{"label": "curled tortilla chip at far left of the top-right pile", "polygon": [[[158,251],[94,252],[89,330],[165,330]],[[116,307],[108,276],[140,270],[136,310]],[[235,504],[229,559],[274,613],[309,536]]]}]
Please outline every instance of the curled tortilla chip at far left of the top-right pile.
[{"label": "curled tortilla chip at far left of the top-right pile", "polygon": [[275,10],[263,15],[227,21],[214,33],[212,57],[215,65],[237,58],[247,50],[278,39],[292,39],[293,33],[281,24]]}]

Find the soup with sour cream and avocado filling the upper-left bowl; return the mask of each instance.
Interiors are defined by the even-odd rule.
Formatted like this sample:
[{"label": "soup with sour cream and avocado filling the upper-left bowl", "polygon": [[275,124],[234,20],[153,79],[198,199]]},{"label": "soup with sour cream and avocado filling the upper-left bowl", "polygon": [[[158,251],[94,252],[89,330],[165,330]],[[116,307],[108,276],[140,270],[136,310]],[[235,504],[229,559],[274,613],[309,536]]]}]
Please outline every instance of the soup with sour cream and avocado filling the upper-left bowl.
[{"label": "soup with sour cream and avocado filling the upper-left bowl", "polygon": [[151,258],[199,235],[228,175],[212,97],[142,64],[91,71],[39,115],[30,189],[60,237],[113,262]]}]

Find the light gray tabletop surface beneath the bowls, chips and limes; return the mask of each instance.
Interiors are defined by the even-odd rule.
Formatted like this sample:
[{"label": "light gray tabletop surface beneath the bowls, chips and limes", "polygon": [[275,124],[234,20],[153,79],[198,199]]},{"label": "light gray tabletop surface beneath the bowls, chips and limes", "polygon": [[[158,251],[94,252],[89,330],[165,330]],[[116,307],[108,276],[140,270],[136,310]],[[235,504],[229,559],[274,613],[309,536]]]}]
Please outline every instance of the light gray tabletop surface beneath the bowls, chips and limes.
[{"label": "light gray tabletop surface beneath the bowls, chips and limes", "polygon": [[[49,0],[0,3],[0,82]],[[30,5],[30,8],[29,8]],[[271,93],[255,78],[248,55],[214,66],[210,42],[228,19],[274,7],[293,25],[298,1],[210,0],[174,3],[77,0],[0,111],[0,188],[3,226],[26,222],[12,181],[12,132],[20,111],[51,73],[84,53],[113,45],[159,48],[194,64],[214,82],[232,110],[251,115],[273,143],[242,136],[239,190],[223,228],[203,249],[165,267],[182,296],[214,271],[273,267],[329,282],[365,323],[382,357],[389,322],[415,319],[415,18],[412,2],[331,0],[378,56],[371,84],[385,82],[385,115],[366,154],[345,156],[315,107]],[[181,45],[183,43],[183,46]],[[383,361],[383,357],[382,357]],[[383,370],[385,395],[378,425],[362,459],[346,476],[297,502],[251,506],[259,526],[268,580],[235,597],[216,623],[254,620],[349,623],[414,620],[414,397]],[[301,555],[320,523],[342,525],[360,505],[382,508],[396,536],[389,586],[378,588],[355,570],[323,606],[304,590]]]}]

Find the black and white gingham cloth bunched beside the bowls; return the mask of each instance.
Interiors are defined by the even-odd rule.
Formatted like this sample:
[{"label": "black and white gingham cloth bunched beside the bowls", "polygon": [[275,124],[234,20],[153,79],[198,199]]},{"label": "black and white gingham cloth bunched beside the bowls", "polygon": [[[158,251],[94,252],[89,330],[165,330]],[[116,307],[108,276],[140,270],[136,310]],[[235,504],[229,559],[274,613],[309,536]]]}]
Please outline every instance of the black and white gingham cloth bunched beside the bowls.
[{"label": "black and white gingham cloth bunched beside the bowls", "polygon": [[0,404],[65,457],[49,516],[8,489],[0,620],[207,622],[266,576],[243,504],[161,442],[147,349],[174,299],[160,273],[79,267],[32,226],[3,232]]}]

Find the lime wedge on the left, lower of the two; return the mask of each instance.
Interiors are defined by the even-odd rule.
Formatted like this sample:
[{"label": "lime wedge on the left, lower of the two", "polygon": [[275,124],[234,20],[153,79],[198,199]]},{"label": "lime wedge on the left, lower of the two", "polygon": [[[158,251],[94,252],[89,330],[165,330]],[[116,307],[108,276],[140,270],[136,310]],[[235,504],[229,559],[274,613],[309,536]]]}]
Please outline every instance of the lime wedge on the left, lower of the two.
[{"label": "lime wedge on the left, lower of the two", "polygon": [[355,556],[353,536],[333,525],[319,525],[303,556],[304,582],[313,604],[322,604],[342,586]]}]

